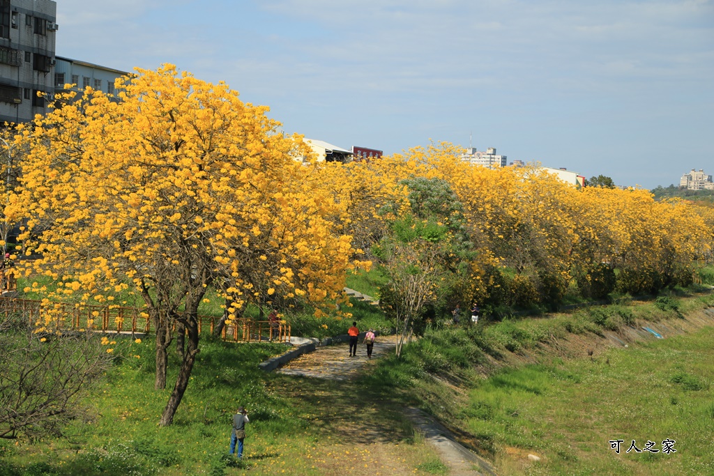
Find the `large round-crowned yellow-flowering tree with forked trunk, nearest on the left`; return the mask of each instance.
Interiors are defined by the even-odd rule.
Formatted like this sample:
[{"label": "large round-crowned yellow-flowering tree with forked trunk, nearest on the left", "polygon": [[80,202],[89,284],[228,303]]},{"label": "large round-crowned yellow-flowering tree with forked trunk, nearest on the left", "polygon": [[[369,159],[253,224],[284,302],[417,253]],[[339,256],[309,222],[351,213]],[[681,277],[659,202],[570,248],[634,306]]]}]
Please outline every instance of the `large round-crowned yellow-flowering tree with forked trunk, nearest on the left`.
[{"label": "large round-crowned yellow-flowering tree with forked trunk, nearest on the left", "polygon": [[[116,302],[136,295],[156,328],[157,389],[166,385],[172,328],[186,347],[161,425],[170,425],[198,353],[198,305],[208,286],[248,302],[340,295],[352,253],[313,191],[297,137],[268,108],[164,65],[118,81],[118,97],[86,88],[20,128],[29,148],[26,253],[56,283],[49,298]],[[27,270],[29,272],[29,270]],[[52,324],[54,316],[47,316]]]}]

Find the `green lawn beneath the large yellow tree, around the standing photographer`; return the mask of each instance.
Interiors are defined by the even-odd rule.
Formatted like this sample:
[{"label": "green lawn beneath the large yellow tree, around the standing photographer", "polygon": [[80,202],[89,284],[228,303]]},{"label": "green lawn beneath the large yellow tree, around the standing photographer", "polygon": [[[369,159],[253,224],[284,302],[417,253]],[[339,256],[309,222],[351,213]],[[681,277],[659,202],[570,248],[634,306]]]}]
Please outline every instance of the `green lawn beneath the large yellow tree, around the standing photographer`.
[{"label": "green lawn beneath the large yellow tree, around the standing photographer", "polygon": [[[174,425],[158,427],[159,415],[173,387],[154,391],[154,342],[136,343],[116,338],[114,367],[91,395],[94,417],[86,425],[66,429],[66,440],[40,444],[5,443],[0,453],[6,465],[2,475],[31,474],[154,474],[166,468],[224,467],[223,455],[231,415],[238,405],[251,408],[255,427],[267,435],[279,427],[299,431],[303,422],[283,408],[266,387],[257,363],[283,350],[278,344],[239,345],[206,342],[198,354],[188,391],[176,413]],[[178,358],[171,353],[171,368]],[[288,410],[288,411],[285,411]],[[228,430],[227,430],[228,429]],[[255,441],[256,450],[261,444]],[[264,447],[264,445],[262,445]],[[51,468],[51,470],[47,469]]]}]

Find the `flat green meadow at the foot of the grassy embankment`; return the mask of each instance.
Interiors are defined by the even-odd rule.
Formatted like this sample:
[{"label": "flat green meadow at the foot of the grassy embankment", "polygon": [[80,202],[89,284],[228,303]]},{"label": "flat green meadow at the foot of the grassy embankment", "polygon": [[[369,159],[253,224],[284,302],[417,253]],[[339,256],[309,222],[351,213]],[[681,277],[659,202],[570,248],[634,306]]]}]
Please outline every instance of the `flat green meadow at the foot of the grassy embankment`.
[{"label": "flat green meadow at the foot of the grassy embankment", "polygon": [[[495,448],[545,457],[526,474],[712,474],[713,338],[705,328],[594,360],[503,370],[471,390],[466,427]],[[626,453],[632,440],[661,449],[665,439],[678,453]],[[619,455],[610,440],[625,441]]]}]

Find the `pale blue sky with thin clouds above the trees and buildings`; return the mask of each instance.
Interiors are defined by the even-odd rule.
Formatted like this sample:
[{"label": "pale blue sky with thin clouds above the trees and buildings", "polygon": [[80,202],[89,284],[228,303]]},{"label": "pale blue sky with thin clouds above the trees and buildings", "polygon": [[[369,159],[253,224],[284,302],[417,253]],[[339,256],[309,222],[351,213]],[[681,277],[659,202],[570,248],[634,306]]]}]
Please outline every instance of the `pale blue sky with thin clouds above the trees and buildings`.
[{"label": "pale blue sky with thin clouds above the trees and buildings", "polygon": [[57,23],[59,56],[176,64],[343,148],[714,174],[714,0],[58,0]]}]

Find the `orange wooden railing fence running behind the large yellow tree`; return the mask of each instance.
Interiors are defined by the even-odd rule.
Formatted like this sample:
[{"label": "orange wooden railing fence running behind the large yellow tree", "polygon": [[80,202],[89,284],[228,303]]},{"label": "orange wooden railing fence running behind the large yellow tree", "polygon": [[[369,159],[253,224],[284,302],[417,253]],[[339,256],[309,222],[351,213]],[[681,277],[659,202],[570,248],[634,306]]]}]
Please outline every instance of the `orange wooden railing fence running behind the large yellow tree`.
[{"label": "orange wooden railing fence running behind the large yellow tree", "polygon": [[[70,303],[44,303],[39,300],[0,297],[0,314],[21,313],[32,325],[38,325],[45,316],[59,329],[92,329],[102,333],[131,335],[154,332],[149,315],[141,309],[119,305],[83,305]],[[221,318],[198,316],[198,333],[213,333]],[[272,327],[267,320],[236,319],[226,324],[221,338],[229,342],[262,342],[275,340],[290,342],[289,324]]]}]

